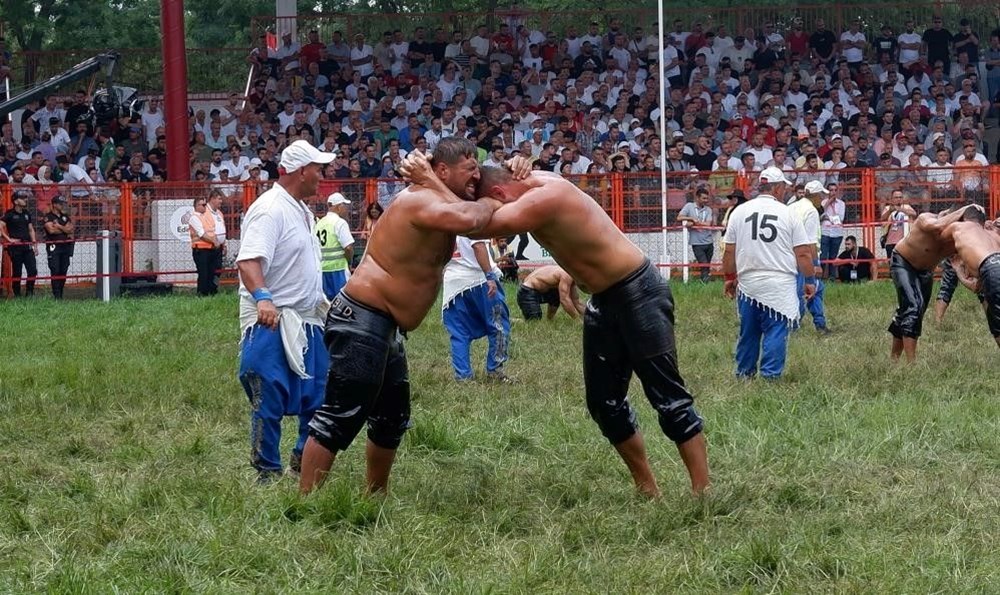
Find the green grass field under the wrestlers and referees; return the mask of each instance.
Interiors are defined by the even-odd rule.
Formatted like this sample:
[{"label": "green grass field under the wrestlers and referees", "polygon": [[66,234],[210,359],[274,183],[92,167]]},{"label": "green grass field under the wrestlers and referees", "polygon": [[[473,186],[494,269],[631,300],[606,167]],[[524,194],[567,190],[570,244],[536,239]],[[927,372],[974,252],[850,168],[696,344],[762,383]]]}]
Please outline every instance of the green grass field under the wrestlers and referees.
[{"label": "green grass field under the wrestlers and referees", "polygon": [[4,302],[0,592],[1000,591],[998,354],[968,292],[906,367],[891,285],[833,287],[836,334],[799,332],[778,383],[734,379],[720,284],[674,292],[703,500],[638,382],[664,497],[634,494],[562,314],[515,320],[508,388],[452,383],[433,311],[391,494],[361,495],[359,441],[301,499],[254,485],[234,295]]}]

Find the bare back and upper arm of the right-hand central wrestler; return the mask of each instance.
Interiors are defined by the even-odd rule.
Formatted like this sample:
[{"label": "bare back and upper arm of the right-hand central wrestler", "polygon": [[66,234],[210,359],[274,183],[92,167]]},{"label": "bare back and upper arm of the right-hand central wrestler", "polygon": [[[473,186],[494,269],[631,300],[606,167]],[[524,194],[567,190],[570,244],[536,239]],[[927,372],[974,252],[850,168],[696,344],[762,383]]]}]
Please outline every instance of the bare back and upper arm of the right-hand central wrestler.
[{"label": "bare back and upper arm of the right-hand central wrestler", "polygon": [[536,171],[530,177],[541,185],[497,209],[476,237],[530,231],[590,293],[604,291],[642,265],[645,255],[597,201],[556,174]]}]

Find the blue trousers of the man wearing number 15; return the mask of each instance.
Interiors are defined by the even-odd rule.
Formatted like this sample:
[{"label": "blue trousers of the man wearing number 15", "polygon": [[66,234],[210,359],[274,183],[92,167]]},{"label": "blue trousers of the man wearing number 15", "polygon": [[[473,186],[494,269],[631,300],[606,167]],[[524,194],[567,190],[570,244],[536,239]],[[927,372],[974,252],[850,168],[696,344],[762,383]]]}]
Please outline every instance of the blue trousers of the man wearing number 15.
[{"label": "blue trousers of the man wearing number 15", "polygon": [[742,378],[754,376],[760,360],[760,375],[764,378],[778,378],[785,370],[789,320],[774,310],[750,301],[742,294],[736,298],[736,307],[740,314],[740,336],[736,341],[736,375]]}]

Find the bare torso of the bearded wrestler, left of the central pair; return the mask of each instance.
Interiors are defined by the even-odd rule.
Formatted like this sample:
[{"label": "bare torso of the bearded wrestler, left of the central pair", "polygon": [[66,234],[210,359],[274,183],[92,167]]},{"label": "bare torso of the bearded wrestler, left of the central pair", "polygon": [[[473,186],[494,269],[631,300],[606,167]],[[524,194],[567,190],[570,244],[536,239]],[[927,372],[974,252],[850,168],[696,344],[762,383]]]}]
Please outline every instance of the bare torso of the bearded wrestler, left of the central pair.
[{"label": "bare torso of the bearded wrestler, left of the central pair", "polygon": [[366,306],[388,312],[402,330],[420,326],[441,289],[455,234],[413,224],[414,213],[441,201],[421,187],[400,192],[372,233],[365,257],[344,291]]}]

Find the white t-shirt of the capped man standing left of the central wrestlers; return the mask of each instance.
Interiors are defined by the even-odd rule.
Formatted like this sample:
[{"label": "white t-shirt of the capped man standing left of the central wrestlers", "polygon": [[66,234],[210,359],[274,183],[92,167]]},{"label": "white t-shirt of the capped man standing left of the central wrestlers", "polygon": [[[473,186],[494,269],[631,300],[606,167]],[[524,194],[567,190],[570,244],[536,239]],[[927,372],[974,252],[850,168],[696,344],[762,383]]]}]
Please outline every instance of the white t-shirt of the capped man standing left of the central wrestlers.
[{"label": "white t-shirt of the capped man standing left of the central wrestlers", "polygon": [[[237,262],[261,259],[264,285],[277,308],[311,312],[324,299],[313,214],[280,184],[260,195],[243,219]],[[247,299],[243,280],[240,295]]]}]

